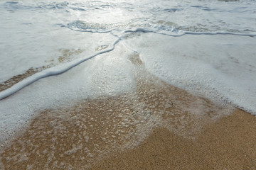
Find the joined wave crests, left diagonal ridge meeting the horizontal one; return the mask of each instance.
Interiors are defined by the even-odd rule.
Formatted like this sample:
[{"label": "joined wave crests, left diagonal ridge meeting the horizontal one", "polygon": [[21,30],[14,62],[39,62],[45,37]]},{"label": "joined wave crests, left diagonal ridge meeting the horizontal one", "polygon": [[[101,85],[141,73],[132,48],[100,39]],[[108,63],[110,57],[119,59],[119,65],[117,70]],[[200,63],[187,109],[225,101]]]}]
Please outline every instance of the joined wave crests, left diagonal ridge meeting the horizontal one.
[{"label": "joined wave crests, left diagonal ridge meeting the horizontal one", "polygon": [[[84,58],[80,58],[78,60],[73,60],[72,62],[68,62],[62,65],[57,65],[55,67],[51,67],[49,69],[45,69],[41,72],[38,72],[36,74],[33,74],[31,77],[28,77],[24,79],[23,81],[18,82],[17,84],[14,84],[14,86],[11,86],[9,89],[6,89],[4,91],[0,92],[0,100],[3,98],[6,98],[8,96],[11,96],[12,94],[15,94],[17,91],[23,89],[25,86],[28,86],[29,84],[32,84],[35,81],[38,81],[39,79],[43,79],[45,77],[50,77],[58,74],[62,74],[64,72],[67,72],[69,69],[72,69],[73,67],[77,66],[78,64],[81,64],[82,62],[85,62],[86,60],[90,60],[92,57],[96,57],[97,55],[101,55],[106,52],[110,52],[114,50],[114,46],[119,42],[119,40],[123,40],[124,33],[156,33],[161,35],[168,35],[168,36],[183,36],[183,35],[238,35],[238,36],[250,36],[250,37],[256,37],[256,34],[247,34],[247,33],[228,33],[228,32],[190,32],[190,31],[184,31],[184,30],[175,30],[174,28],[171,31],[166,30],[154,30],[154,29],[146,29],[146,28],[132,28],[127,30],[115,30],[114,28],[110,28],[110,30],[107,30],[110,26],[100,26],[100,25],[94,25],[94,24],[85,24],[81,23],[80,21],[76,21],[73,24],[68,24],[68,28],[75,30],[75,31],[82,31],[82,32],[90,32],[90,33],[111,33],[114,37],[117,38],[112,43],[112,47],[107,48],[107,50],[102,50],[101,52],[95,53],[95,55],[87,56]],[[116,31],[117,33],[114,33]]]}]

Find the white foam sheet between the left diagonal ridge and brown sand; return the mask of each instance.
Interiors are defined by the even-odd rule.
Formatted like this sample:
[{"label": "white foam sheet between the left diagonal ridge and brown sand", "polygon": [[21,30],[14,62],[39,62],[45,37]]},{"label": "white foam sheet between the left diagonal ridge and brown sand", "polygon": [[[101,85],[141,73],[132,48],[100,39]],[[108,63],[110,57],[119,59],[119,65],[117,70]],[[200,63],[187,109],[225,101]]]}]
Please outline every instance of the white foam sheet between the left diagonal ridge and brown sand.
[{"label": "white foam sheet between the left diagonal ridge and brown sand", "polygon": [[68,107],[87,98],[131,91],[134,80],[124,50],[120,45],[112,52],[98,55],[64,74],[40,79],[14,96],[1,100],[0,141],[26,123],[33,113],[47,108]]}]

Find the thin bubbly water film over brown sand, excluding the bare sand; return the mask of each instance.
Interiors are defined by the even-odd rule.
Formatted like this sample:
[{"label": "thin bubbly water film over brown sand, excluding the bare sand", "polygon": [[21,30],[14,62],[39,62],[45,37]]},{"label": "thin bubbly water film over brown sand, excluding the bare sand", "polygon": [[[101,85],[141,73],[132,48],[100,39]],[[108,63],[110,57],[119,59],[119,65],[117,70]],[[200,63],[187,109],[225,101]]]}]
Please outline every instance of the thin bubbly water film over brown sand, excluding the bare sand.
[{"label": "thin bubbly water film over brown sand, excluding the bare sand", "polygon": [[137,147],[156,128],[196,140],[204,125],[232,108],[166,84],[146,72],[139,55],[131,94],[46,110],[1,153],[4,169],[87,169],[110,153]]}]

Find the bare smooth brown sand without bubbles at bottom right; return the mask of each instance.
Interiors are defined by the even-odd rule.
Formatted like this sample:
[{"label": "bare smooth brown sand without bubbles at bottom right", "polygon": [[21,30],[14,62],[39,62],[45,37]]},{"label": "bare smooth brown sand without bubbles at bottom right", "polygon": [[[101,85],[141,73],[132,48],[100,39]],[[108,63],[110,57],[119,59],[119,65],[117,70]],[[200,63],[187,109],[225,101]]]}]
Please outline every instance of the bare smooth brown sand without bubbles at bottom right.
[{"label": "bare smooth brown sand without bubbles at bottom right", "polygon": [[243,111],[187,140],[155,129],[139,147],[107,157],[92,169],[256,169],[256,120]]}]

